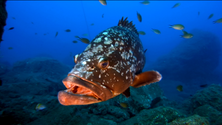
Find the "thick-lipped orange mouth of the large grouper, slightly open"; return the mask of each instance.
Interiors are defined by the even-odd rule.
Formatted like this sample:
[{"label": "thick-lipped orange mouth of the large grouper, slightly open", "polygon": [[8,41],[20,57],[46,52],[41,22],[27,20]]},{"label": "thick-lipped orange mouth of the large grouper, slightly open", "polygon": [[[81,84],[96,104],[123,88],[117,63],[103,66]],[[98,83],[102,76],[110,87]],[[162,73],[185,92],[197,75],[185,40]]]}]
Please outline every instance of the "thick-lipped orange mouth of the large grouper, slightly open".
[{"label": "thick-lipped orange mouth of the large grouper, slightly open", "polygon": [[66,90],[59,91],[58,100],[62,105],[88,105],[106,100],[106,95],[111,92],[99,84],[80,78],[75,75],[68,75],[63,84]]}]

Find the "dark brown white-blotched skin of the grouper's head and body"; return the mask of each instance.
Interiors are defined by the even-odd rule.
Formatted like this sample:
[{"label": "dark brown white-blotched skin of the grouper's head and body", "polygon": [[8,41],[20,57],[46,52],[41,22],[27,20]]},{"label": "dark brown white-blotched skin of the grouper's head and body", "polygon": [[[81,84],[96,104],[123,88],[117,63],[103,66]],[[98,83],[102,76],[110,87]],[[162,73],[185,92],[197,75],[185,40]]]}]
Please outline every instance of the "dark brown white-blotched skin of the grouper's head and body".
[{"label": "dark brown white-blotched skin of the grouper's head and body", "polygon": [[[97,35],[85,51],[78,57],[73,73],[92,82],[115,88],[122,87],[117,93],[129,87],[134,74],[144,67],[145,56],[137,32],[122,26],[111,27]],[[97,67],[100,58],[108,57],[109,67]],[[91,70],[91,67],[95,67]]]}]

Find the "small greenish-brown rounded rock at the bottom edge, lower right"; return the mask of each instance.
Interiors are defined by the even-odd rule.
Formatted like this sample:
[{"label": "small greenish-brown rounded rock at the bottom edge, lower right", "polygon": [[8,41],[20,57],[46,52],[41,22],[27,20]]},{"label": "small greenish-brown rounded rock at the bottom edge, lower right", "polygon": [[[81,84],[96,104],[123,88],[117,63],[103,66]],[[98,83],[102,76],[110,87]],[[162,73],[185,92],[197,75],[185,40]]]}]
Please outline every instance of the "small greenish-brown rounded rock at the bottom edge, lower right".
[{"label": "small greenish-brown rounded rock at the bottom edge, lower right", "polygon": [[187,118],[179,118],[172,121],[169,125],[210,125],[206,118],[193,115]]}]

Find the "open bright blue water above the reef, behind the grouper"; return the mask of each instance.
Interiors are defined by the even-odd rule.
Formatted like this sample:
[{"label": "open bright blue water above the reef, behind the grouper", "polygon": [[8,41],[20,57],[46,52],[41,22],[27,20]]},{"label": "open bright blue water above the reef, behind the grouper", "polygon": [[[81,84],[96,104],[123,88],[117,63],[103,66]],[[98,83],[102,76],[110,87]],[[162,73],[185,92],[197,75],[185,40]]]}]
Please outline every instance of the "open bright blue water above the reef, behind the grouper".
[{"label": "open bright blue water above the reef, behind the grouper", "polygon": [[[183,24],[187,32],[195,28],[210,31],[222,41],[222,24],[213,24],[222,18],[222,1],[179,1],[181,5],[172,9],[177,2],[151,1],[149,5],[142,5],[139,1],[108,1],[107,6],[103,6],[99,1],[7,1],[8,19],[0,45],[0,60],[12,64],[44,55],[74,65],[72,56],[87,46],[82,42],[72,43],[75,36],[84,37],[82,34],[88,33],[88,26],[86,38],[92,40],[103,30],[116,26],[122,16],[133,21],[138,31],[146,32],[140,38],[144,49],[148,49],[148,64],[182,41],[179,36],[182,32],[169,28],[170,24]],[[141,23],[137,11],[142,15]],[[214,16],[208,20],[212,13]],[[15,29],[8,30],[10,27]],[[153,33],[151,28],[159,29],[161,34]],[[65,32],[66,29],[71,32]],[[59,34],[55,37],[57,31]]]}]

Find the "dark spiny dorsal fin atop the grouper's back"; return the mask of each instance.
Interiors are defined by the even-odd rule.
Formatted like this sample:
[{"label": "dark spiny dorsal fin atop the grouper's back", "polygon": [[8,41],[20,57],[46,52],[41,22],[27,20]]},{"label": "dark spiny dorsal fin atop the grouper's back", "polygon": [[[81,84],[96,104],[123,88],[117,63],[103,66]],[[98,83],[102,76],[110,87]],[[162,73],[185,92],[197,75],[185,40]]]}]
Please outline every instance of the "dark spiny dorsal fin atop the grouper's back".
[{"label": "dark spiny dorsal fin atop the grouper's back", "polygon": [[124,17],[122,17],[122,19],[118,23],[118,26],[125,27],[125,28],[135,32],[137,35],[139,35],[139,33],[136,30],[135,25],[133,25],[133,22],[132,21],[128,22],[127,18],[128,17],[126,17],[125,20],[124,20]]}]

